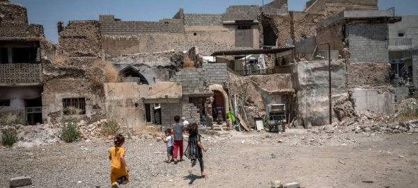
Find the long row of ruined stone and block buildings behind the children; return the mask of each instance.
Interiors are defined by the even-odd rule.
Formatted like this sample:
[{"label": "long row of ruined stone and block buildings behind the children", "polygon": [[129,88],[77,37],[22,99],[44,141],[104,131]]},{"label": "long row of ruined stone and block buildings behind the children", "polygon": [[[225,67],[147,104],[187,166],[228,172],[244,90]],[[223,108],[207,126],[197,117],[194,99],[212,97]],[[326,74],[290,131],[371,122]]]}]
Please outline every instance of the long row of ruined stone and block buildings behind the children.
[{"label": "long row of ruined stone and block buildings behind the children", "polygon": [[[377,0],[312,0],[302,12],[289,12],[286,0],[229,6],[222,14],[180,9],[158,22],[99,15],[59,22],[57,45],[46,42],[41,25],[28,24],[26,8],[8,2],[0,8],[0,66],[6,66],[0,71],[0,113],[21,113],[30,125],[75,117],[167,128],[178,114],[198,123],[206,117],[212,126],[216,105],[227,119],[235,100],[243,99],[251,127],[265,117],[267,105],[283,103],[288,123],[310,128],[330,119],[327,87],[333,121],[356,110],[393,113],[409,92],[391,85],[388,64],[395,59],[388,41],[397,44],[388,40],[391,24],[403,19],[379,11]],[[409,61],[412,73],[418,58],[409,52],[398,61]],[[328,55],[331,86],[328,61],[311,61]],[[248,66],[261,60],[261,68]],[[109,65],[114,72],[107,72]],[[68,108],[79,111],[68,114]]]}]

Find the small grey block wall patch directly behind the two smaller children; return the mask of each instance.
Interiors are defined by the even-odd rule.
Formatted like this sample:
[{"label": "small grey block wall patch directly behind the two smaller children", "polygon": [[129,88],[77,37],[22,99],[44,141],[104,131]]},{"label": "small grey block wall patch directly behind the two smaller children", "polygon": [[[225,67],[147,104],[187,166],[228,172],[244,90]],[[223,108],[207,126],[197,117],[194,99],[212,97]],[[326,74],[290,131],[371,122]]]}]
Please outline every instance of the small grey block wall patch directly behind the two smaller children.
[{"label": "small grey block wall patch directly behind the two smaller children", "polygon": [[161,121],[162,130],[170,128],[174,123],[174,116],[181,117],[183,111],[183,103],[162,103],[161,104]]}]

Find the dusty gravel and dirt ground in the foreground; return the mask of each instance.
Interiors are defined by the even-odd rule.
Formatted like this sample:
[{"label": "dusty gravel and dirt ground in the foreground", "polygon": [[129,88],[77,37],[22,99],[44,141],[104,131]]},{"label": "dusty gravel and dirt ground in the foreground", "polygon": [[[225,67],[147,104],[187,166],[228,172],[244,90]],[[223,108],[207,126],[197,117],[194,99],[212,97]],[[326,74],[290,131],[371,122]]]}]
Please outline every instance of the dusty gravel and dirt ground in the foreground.
[{"label": "dusty gravel and dirt ground in the foreground", "polygon": [[[263,132],[231,135],[203,135],[203,145],[210,148],[204,154],[206,178],[200,176],[199,164],[189,174],[187,159],[164,163],[161,142],[127,140],[131,173],[124,187],[270,187],[274,180],[299,182],[307,188],[417,187],[417,133],[288,130],[286,137]],[[0,187],[8,187],[8,180],[17,176],[31,176],[33,185],[27,187],[110,187],[109,147],[110,142],[93,140],[1,148]]]}]

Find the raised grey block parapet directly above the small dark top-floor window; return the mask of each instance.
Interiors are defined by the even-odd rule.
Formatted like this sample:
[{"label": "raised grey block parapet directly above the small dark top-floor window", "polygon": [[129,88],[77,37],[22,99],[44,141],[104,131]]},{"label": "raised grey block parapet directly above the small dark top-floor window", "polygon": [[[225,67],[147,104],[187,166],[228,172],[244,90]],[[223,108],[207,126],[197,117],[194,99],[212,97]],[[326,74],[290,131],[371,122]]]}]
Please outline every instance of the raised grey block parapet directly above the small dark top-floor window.
[{"label": "raised grey block parapet directly above the small dark top-floor window", "polygon": [[229,6],[222,21],[257,20],[258,14],[260,14],[258,6]]}]

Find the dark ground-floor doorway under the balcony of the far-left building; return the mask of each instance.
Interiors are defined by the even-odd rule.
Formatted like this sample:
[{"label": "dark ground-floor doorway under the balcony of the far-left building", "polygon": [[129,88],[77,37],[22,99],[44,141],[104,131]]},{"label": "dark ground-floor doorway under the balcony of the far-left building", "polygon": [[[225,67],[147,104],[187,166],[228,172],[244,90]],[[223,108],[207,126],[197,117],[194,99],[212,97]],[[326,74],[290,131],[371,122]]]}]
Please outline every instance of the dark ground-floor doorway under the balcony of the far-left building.
[{"label": "dark ground-floor doorway under the balcony of the far-left building", "polygon": [[42,123],[42,99],[25,99],[26,125],[33,126]]}]

